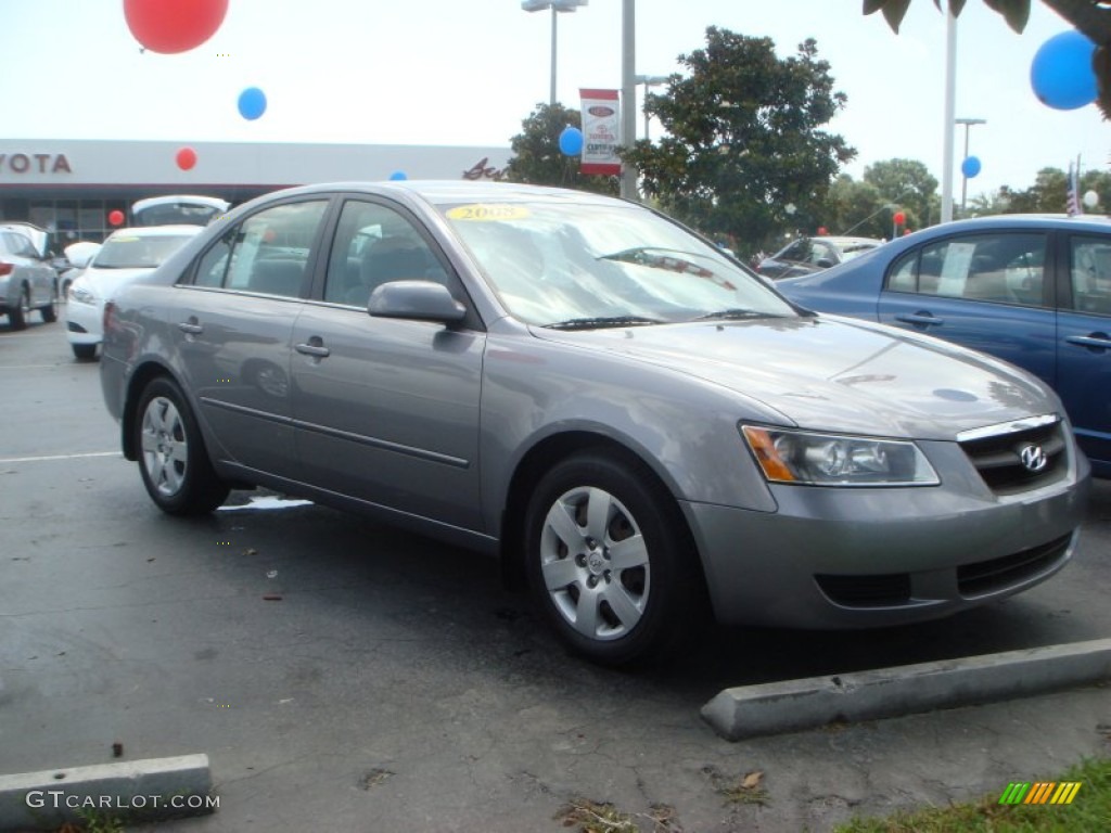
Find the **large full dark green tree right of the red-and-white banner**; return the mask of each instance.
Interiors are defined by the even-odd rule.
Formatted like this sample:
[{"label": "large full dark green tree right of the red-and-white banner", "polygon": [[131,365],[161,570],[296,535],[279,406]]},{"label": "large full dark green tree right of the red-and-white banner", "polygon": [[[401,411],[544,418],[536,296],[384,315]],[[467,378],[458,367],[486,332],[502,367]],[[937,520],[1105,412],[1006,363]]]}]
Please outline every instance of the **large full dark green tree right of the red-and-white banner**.
[{"label": "large full dark green tree right of the red-and-white banner", "polygon": [[710,27],[705,49],[679,57],[645,108],[667,131],[627,148],[649,197],[712,235],[764,244],[788,228],[813,231],[817,211],[855,150],[820,130],[844,107],[813,40],[780,60],[769,38]]}]

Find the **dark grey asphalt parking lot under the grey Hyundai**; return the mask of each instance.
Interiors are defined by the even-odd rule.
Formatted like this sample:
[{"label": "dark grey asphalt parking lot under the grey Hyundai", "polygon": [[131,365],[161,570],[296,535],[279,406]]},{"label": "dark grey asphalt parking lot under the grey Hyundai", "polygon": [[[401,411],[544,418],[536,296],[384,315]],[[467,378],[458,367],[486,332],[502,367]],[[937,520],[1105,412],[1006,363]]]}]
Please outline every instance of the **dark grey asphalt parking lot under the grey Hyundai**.
[{"label": "dark grey asphalt parking lot under the grey Hyundai", "polygon": [[[177,520],[118,453],[64,323],[0,323],[0,773],[207,753],[211,831],[824,831],[1111,753],[1093,686],[729,743],[721,689],[1111,636],[1111,484],[1021,596],[879,632],[720,629],[667,671],[569,658],[496,563],[314,505]],[[753,772],[759,787],[738,795]],[[1082,799],[1082,794],[1081,794]]]}]

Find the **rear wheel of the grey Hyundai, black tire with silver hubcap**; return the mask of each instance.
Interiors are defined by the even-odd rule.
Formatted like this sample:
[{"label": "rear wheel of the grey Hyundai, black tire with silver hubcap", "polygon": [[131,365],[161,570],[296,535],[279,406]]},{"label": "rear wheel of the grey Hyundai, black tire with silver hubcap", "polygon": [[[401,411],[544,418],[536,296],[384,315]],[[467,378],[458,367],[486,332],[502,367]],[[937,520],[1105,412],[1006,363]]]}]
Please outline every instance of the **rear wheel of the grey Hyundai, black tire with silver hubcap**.
[{"label": "rear wheel of the grey Hyundai, black tire with silver hubcap", "polygon": [[197,420],[172,380],[151,380],[134,418],[139,471],[151,500],[171,515],[211,512],[231,491],[212,470]]}]

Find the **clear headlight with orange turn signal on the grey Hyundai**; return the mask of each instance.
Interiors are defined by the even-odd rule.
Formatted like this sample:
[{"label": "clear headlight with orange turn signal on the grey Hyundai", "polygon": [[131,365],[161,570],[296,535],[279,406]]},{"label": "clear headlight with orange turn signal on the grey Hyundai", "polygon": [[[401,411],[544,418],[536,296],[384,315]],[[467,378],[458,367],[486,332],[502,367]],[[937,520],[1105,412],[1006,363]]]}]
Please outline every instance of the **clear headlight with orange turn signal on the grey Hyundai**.
[{"label": "clear headlight with orange turn signal on the grey Hyundai", "polygon": [[805,485],[937,485],[938,473],[907,440],[741,425],[764,476]]}]

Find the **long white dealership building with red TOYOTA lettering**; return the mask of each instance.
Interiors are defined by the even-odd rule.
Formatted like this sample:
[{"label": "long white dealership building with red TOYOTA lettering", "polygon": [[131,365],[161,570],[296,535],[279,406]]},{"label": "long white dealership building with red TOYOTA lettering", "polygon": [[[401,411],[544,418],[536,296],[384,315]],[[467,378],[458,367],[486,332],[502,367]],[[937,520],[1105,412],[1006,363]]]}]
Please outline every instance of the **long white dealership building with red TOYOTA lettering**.
[{"label": "long white dealership building with red TOYOTA lettering", "polygon": [[509,148],[412,144],[0,139],[0,222],[32,222],[62,243],[103,240],[113,211],[146,197],[220,197],[233,205],[290,185],[502,178]]}]

